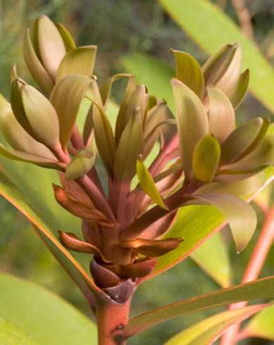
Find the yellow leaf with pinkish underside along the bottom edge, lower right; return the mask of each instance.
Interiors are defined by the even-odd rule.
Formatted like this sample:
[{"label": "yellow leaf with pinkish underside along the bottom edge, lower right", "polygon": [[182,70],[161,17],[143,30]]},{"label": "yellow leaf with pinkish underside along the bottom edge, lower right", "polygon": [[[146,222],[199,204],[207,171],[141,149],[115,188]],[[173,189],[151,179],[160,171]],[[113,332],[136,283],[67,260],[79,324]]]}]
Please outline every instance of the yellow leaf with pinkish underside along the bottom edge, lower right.
[{"label": "yellow leaf with pinkish underside along the bottom edge, lower right", "polygon": [[264,305],[225,311],[207,318],[176,334],[165,345],[207,345],[216,341],[231,325],[258,313]]}]

